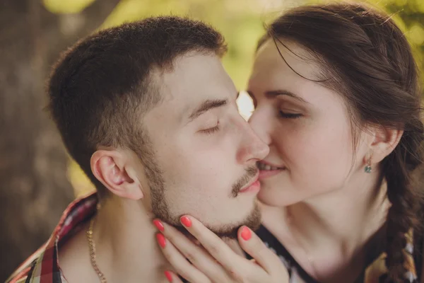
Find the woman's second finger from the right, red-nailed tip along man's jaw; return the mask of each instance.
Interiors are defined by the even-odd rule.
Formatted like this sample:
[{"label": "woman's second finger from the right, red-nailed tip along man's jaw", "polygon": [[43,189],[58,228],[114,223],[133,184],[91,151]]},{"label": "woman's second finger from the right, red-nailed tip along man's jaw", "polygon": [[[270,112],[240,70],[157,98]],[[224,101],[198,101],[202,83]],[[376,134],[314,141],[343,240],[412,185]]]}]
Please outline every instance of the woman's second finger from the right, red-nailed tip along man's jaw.
[{"label": "woman's second finger from the right, red-nailed tip along man's jaw", "polygon": [[240,270],[241,260],[245,259],[234,253],[227,244],[201,224],[200,221],[186,215],[181,217],[181,223],[226,270],[232,273],[235,270]]}]

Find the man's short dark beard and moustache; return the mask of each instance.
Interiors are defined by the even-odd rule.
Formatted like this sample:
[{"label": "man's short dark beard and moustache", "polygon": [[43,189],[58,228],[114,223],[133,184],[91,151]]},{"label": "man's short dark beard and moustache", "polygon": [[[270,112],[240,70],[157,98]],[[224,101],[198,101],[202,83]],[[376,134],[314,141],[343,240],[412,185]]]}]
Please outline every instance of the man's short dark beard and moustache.
[{"label": "man's short dark beard and moustache", "polygon": [[[161,219],[167,224],[175,226],[184,235],[189,236],[189,232],[182,227],[179,222],[179,218],[182,215],[174,215],[170,212],[169,205],[165,200],[165,180],[163,179],[163,172],[160,170],[158,163],[155,162],[153,154],[150,154],[150,160],[145,163],[146,177],[148,179],[148,185],[151,188],[151,207],[152,212],[158,219]],[[242,187],[252,179],[257,173],[257,168],[247,168],[246,174],[237,180],[235,185],[232,186],[231,197],[237,197],[238,192]],[[240,226],[248,226],[253,231],[259,229],[261,225],[261,212],[257,201],[254,202],[254,208],[252,212],[242,221],[235,224],[224,224],[218,228],[206,227],[213,233],[216,233],[220,238],[237,238],[237,230]]]}]

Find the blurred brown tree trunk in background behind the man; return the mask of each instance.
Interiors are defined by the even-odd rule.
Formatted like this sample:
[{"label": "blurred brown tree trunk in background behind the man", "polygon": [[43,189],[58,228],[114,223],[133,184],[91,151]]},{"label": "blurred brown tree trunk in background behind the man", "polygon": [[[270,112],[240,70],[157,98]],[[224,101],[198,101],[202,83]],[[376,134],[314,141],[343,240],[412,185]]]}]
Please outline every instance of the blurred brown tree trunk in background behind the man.
[{"label": "blurred brown tree trunk in background behind the man", "polygon": [[118,1],[71,15],[49,13],[38,0],[0,1],[0,282],[47,241],[73,200],[68,156],[43,111],[50,66]]}]

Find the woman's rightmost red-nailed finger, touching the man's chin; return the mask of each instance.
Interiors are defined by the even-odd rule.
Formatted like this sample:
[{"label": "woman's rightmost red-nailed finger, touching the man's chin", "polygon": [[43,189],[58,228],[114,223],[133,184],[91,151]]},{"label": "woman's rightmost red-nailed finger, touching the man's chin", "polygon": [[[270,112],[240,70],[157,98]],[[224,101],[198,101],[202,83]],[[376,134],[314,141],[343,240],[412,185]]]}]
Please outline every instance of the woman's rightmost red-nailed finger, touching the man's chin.
[{"label": "woman's rightmost red-nailed finger, touching the man's chin", "polygon": [[247,226],[240,227],[238,239],[242,249],[252,256],[255,262],[263,267],[269,275],[276,275],[278,277],[286,276],[288,278],[288,271],[283,265],[283,262],[265,246],[264,242],[251,229]]}]

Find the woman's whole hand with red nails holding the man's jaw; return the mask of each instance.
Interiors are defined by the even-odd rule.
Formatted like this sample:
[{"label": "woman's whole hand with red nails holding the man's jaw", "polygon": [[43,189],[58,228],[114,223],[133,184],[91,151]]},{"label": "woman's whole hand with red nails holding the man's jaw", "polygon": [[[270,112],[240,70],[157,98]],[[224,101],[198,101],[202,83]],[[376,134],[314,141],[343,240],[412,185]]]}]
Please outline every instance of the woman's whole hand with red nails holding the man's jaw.
[{"label": "woman's whole hand with red nails holding the man's jaw", "polygon": [[[240,227],[238,241],[254,260],[237,255],[192,216],[182,216],[181,222],[203,248],[174,227],[159,220],[153,222],[161,231],[157,238],[165,258],[189,282],[288,283],[288,272],[281,260],[246,226]],[[182,282],[173,272],[167,272],[167,277],[170,282]]]}]

